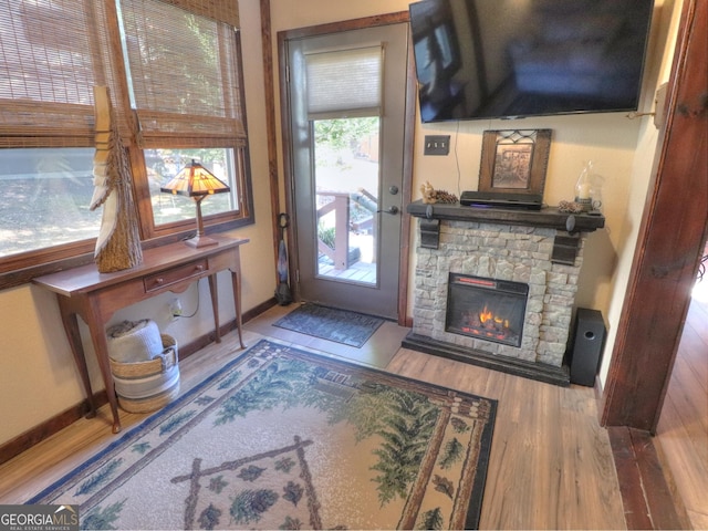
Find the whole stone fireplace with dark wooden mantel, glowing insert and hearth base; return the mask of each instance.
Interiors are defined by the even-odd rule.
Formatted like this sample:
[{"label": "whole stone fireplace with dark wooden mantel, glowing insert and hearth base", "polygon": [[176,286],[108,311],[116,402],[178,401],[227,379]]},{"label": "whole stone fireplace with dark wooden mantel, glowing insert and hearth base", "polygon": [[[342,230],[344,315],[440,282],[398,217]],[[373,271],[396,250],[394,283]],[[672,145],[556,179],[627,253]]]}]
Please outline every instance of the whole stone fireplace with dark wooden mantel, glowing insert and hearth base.
[{"label": "whole stone fireplace with dark wooden mantel, glowing insert and hearth base", "polygon": [[570,384],[563,360],[583,244],[604,218],[459,205],[408,211],[421,232],[404,346]]}]

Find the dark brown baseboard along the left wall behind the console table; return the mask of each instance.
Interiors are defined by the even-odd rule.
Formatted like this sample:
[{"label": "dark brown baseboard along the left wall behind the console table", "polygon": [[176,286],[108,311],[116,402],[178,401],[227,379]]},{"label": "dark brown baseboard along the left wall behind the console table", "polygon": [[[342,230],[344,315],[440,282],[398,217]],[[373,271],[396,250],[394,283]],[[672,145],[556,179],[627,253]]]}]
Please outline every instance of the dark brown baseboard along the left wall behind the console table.
[{"label": "dark brown baseboard along the left wall behind the console table", "polygon": [[[273,308],[278,302],[274,298],[269,299],[261,304],[252,308],[248,312],[244,312],[242,315],[242,322],[248,323],[250,320],[257,317],[264,311]],[[221,331],[221,335],[226,335],[229,332],[236,331],[236,319],[232,319],[228,323],[223,324],[219,327]],[[200,351],[205,346],[210,343],[214,343],[216,340],[216,334],[210,332],[200,337],[197,337],[195,341],[191,341],[187,344],[179,345],[179,358],[185,360],[192,355],[194,353]],[[93,396],[94,404],[96,407],[102,407],[108,403],[108,397],[106,395],[105,389],[94,393]],[[42,440],[51,437],[52,435],[61,431],[66,426],[72,425],[80,418],[84,417],[88,412],[88,400],[82,400],[74,406],[69,407],[62,413],[54,415],[53,417],[44,420],[42,424],[27,430],[25,433],[10,439],[9,441],[0,445],[0,465],[9,461],[13,457],[19,456],[24,450],[28,450],[32,446],[41,442]]]}]

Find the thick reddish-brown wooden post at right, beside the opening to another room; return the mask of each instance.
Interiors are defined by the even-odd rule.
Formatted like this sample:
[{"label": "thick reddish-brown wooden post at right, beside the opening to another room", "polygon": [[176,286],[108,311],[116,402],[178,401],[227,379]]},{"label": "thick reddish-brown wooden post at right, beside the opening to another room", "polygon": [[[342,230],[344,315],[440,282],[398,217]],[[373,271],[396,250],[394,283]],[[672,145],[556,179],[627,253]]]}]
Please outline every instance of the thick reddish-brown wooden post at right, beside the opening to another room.
[{"label": "thick reddish-brown wooden post at right, beside the opening to another room", "polygon": [[708,217],[708,0],[685,0],[602,424],[656,431]]}]

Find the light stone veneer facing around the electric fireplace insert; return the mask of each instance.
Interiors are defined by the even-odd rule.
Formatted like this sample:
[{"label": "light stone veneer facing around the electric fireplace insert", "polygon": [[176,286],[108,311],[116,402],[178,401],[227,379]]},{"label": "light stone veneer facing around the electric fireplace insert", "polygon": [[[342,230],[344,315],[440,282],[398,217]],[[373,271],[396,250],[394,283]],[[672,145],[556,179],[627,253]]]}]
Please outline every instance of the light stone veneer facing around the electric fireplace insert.
[{"label": "light stone veneer facing around the electric fireplace insert", "polygon": [[[581,235],[575,263],[551,261],[556,229],[440,220],[439,247],[418,247],[413,333],[493,356],[560,367],[583,261]],[[566,235],[565,232],[563,232]],[[448,273],[529,284],[520,347],[445,331]]]}]

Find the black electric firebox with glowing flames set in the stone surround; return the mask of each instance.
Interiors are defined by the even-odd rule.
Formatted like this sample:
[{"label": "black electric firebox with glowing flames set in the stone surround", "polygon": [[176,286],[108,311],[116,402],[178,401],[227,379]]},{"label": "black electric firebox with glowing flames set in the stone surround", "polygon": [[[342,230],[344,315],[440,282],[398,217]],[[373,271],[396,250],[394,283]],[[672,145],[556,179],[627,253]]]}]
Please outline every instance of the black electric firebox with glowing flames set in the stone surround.
[{"label": "black electric firebox with glowing flames set in the stone surround", "polygon": [[449,273],[445,330],[519,347],[529,285]]}]

